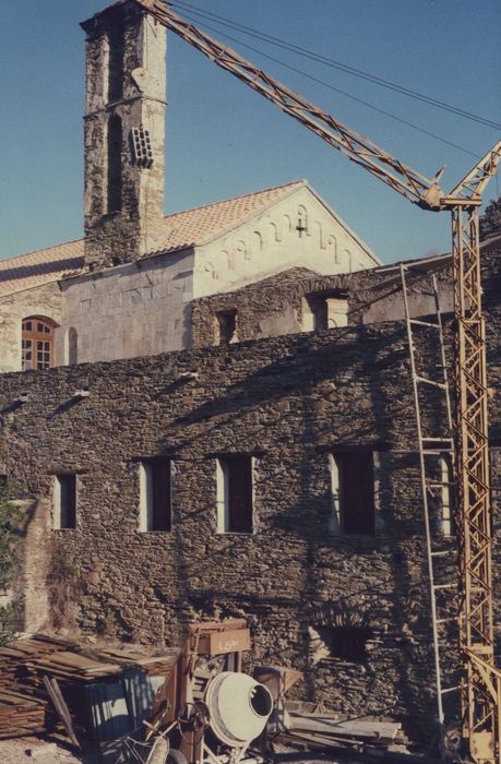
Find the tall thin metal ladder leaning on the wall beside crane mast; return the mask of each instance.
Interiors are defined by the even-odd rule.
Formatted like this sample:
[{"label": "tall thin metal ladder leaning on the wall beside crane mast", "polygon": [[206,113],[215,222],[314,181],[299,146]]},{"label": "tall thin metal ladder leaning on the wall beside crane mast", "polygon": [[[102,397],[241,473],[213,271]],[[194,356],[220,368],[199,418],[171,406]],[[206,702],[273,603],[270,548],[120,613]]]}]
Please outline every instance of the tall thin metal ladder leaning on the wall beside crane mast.
[{"label": "tall thin metal ladder leaning on the wall beside crane mast", "polygon": [[[439,723],[440,748],[443,754],[443,700],[448,693],[460,690],[460,687],[444,688],[442,684],[442,653],[445,649],[445,645],[443,644],[443,638],[441,638],[443,631],[442,625],[446,624],[448,622],[453,622],[457,620],[456,601],[454,601],[454,607],[451,612],[451,601],[448,601],[446,596],[444,597],[446,590],[449,589],[453,592],[454,595],[457,594],[457,581],[455,577],[456,570],[455,564],[452,565],[452,563],[455,563],[454,554],[456,549],[455,545],[454,547],[443,548],[444,544],[440,544],[440,536],[438,536],[436,527],[438,523],[437,518],[432,515],[432,509],[433,504],[436,503],[434,497],[437,496],[437,491],[441,491],[443,497],[444,488],[446,489],[449,494],[451,494],[453,488],[452,475],[454,450],[452,440],[452,408],[449,392],[445,345],[443,338],[443,323],[440,308],[437,276],[434,274],[432,275],[432,297],[434,301],[436,318],[433,317],[433,320],[413,319],[410,318],[409,311],[407,284],[407,274],[410,273],[410,271],[411,268],[409,266],[401,264],[402,295],[404,300],[405,321],[407,325],[407,339],[409,346],[410,371],[413,378],[413,391],[416,411],[427,562],[430,587],[431,629],[433,634],[434,670],[437,682],[437,717]],[[421,332],[421,334],[425,332],[428,333],[428,339],[430,338],[430,333],[432,333],[431,336],[434,336],[439,342],[439,363],[437,363],[436,366],[438,379],[431,379],[429,375],[427,375],[427,373],[429,373],[429,370],[418,370],[419,363],[422,367],[422,359],[419,360],[416,353],[417,332]],[[426,425],[422,417],[421,402],[424,402],[424,399],[426,398],[426,394],[428,391],[437,391],[434,394],[439,396],[445,405],[446,435],[439,435],[438,433],[425,432]],[[433,425],[437,423],[437,417],[432,417]],[[443,458],[448,459],[448,476],[443,475]],[[441,475],[437,476],[437,473],[439,471],[439,466]],[[449,503],[449,511],[451,513],[451,502]],[[449,522],[451,523],[452,535],[452,516],[450,516]],[[442,536],[442,538],[444,537]],[[445,564],[441,565],[441,562]],[[448,564],[453,566],[454,573],[452,576],[446,570]]]}]

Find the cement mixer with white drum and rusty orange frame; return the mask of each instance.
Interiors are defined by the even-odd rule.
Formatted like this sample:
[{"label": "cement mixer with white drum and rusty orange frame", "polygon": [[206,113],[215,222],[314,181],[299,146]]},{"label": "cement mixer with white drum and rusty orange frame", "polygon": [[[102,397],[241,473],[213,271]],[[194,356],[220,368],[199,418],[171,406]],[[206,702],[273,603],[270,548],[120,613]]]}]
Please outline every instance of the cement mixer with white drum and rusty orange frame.
[{"label": "cement mixer with white drum and rusty orange frame", "polygon": [[250,648],[243,619],[189,626],[179,658],[155,699],[148,762],[237,764],[264,760],[249,753],[273,711],[267,688],[241,670]]}]

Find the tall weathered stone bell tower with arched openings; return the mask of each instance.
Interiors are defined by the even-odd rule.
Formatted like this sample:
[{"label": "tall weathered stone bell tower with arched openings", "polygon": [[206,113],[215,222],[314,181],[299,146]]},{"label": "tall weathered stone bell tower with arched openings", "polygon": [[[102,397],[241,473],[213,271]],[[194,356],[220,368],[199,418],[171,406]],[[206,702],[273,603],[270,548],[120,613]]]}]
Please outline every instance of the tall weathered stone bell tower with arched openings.
[{"label": "tall weathered stone bell tower with arched openings", "polygon": [[97,270],[162,248],[166,29],[133,0],[81,26],[87,35],[85,261]]}]

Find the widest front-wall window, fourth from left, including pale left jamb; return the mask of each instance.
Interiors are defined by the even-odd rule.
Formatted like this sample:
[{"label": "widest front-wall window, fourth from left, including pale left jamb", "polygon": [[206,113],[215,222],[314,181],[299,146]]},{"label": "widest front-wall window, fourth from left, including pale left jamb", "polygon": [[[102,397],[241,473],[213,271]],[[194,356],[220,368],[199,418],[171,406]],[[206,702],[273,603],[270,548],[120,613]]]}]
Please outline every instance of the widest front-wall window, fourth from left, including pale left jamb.
[{"label": "widest front-wall window, fourth from left, including pale left jamb", "polygon": [[372,536],[375,525],[372,451],[330,454],[330,470],[331,532]]}]

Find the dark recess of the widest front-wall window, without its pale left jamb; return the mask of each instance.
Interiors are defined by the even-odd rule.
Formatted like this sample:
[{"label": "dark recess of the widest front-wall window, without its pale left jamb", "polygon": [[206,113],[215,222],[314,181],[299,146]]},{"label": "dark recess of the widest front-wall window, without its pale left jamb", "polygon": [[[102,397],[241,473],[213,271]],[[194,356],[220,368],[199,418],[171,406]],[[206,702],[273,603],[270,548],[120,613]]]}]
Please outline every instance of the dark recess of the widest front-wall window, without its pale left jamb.
[{"label": "dark recess of the widest front-wall window, without its pale left jamb", "polygon": [[336,454],[341,475],[341,526],[345,534],[374,533],[372,451]]}]

